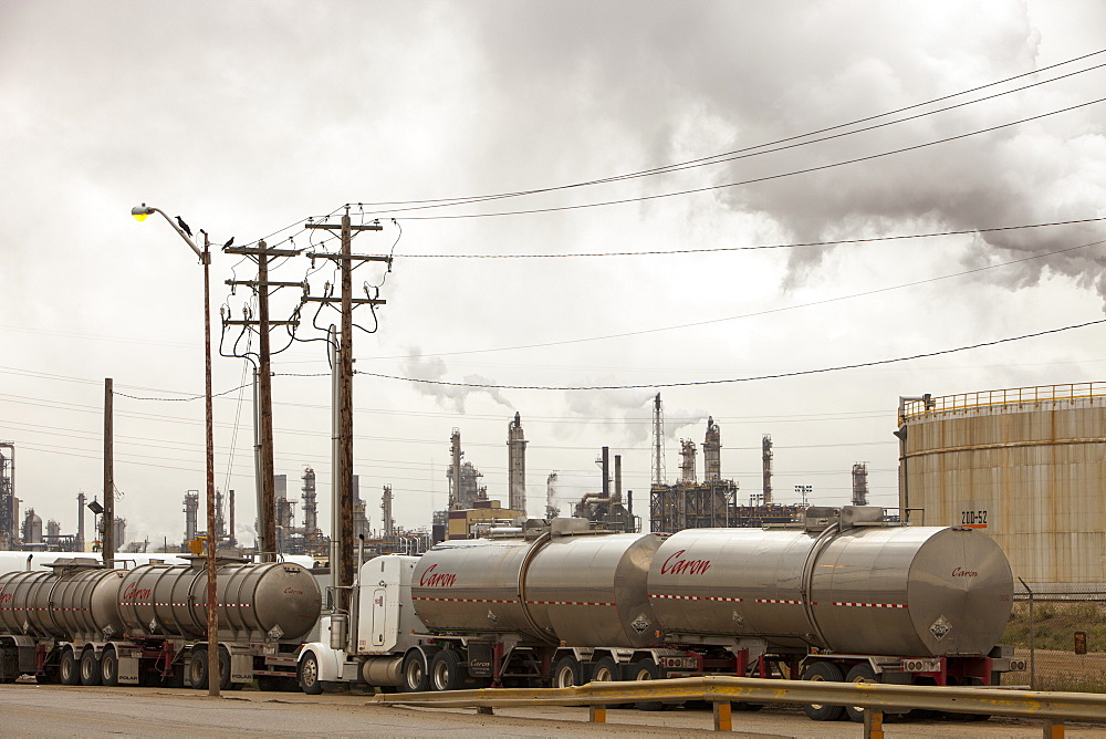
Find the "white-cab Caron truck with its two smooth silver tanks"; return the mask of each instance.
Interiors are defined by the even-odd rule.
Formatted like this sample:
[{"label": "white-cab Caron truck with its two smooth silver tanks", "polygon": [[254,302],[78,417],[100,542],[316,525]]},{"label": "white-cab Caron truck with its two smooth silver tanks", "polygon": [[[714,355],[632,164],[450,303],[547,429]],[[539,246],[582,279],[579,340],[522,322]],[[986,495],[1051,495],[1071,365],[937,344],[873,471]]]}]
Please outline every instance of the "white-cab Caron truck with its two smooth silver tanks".
[{"label": "white-cab Caron truck with its two smooth silver tanks", "polygon": [[[1001,549],[970,529],[888,523],[876,507],[669,537],[531,521],[359,572],[351,633],[344,614],[336,626],[324,616],[333,642],[304,646],[309,693],[706,675],[983,686],[1024,669],[995,647],[1013,593]],[[863,719],[858,708],[806,711]]]}]

